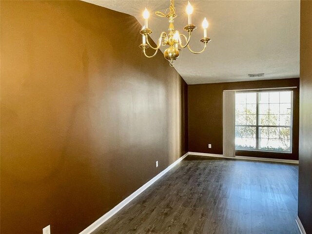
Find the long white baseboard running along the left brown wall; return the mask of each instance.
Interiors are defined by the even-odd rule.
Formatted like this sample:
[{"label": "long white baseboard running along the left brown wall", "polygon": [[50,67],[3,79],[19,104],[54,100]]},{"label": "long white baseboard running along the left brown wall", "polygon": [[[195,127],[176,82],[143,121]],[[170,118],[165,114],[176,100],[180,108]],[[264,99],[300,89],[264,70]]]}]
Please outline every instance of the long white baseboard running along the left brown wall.
[{"label": "long white baseboard running along the left brown wall", "polygon": [[133,194],[129,195],[126,199],[121,201],[117,206],[115,206],[112,210],[107,212],[105,215],[101,216],[97,221],[92,223],[89,227],[84,229],[79,234],[91,234],[94,232],[100,225],[102,225],[104,222],[106,222],[109,218],[111,218],[113,215],[115,215],[118,211],[120,211],[125,205],[127,205],[130,201],[132,201],[134,198],[136,198],[139,194],[141,194],[144,190],[146,190],[148,187],[150,187],[156,180],[158,180],[161,176],[165,175],[168,171],[170,171],[174,166],[176,166],[180,161],[182,161],[186,156],[188,156],[189,153],[186,153],[185,155],[181,156],[179,159],[177,159],[174,163],[172,163],[170,166],[168,166],[165,170],[163,170],[161,173],[159,173],[157,176],[149,180],[147,183],[145,183],[142,187],[137,189]]}]

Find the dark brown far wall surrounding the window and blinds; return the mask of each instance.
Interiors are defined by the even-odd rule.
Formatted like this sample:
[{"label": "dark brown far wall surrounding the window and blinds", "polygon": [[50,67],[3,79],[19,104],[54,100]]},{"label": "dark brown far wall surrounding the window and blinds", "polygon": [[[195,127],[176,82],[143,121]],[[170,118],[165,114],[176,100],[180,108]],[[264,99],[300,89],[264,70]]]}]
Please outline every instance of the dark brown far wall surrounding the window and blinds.
[{"label": "dark brown far wall surrounding the window and blinds", "polygon": [[[236,155],[298,160],[299,78],[189,85],[189,151],[223,154],[223,90],[291,86],[298,87],[292,89],[294,98],[292,154],[236,151]],[[211,149],[208,148],[209,143],[212,144]]]}]

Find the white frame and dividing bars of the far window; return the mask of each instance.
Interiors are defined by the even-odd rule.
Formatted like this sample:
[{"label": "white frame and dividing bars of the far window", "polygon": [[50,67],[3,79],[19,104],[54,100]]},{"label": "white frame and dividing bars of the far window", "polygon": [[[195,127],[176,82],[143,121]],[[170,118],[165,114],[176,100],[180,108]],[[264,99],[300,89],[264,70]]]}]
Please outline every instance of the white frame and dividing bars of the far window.
[{"label": "white frame and dividing bars of the far window", "polygon": [[[287,125],[270,125],[270,122],[269,122],[269,125],[259,125],[259,94],[260,93],[273,93],[273,92],[291,92],[291,123],[290,123],[290,126],[287,126]],[[256,144],[255,144],[255,148],[254,149],[251,149],[251,148],[236,148],[236,143],[235,143],[235,151],[236,150],[239,150],[239,151],[254,151],[254,152],[268,152],[268,153],[281,153],[281,154],[292,154],[292,128],[293,128],[293,90],[289,90],[289,89],[270,89],[270,90],[250,90],[250,91],[235,91],[235,95],[237,93],[256,93],[256,124],[255,125],[243,125],[243,124],[237,124],[236,125],[236,115],[235,115],[235,133],[236,133],[236,126],[238,127],[255,127],[256,129],[256,134],[255,134],[255,140],[256,140]],[[236,100],[235,100],[235,111],[236,111]],[[270,104],[270,100],[269,100],[269,103]],[[281,105],[281,102],[279,101],[279,106]],[[282,103],[283,104],[283,103]],[[279,114],[280,115],[280,114]],[[279,151],[279,150],[264,150],[264,149],[259,149],[259,128],[261,127],[278,127],[278,128],[290,128],[290,151]],[[235,138],[236,138],[236,134],[235,134]]]}]

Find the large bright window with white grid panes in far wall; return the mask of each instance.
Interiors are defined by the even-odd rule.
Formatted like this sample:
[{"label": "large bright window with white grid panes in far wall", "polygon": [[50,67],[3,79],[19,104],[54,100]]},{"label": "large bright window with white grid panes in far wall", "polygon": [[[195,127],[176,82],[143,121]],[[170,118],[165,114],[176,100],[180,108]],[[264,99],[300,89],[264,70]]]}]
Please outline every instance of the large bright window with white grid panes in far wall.
[{"label": "large bright window with white grid panes in far wall", "polygon": [[292,152],[292,91],[235,94],[235,148]]}]

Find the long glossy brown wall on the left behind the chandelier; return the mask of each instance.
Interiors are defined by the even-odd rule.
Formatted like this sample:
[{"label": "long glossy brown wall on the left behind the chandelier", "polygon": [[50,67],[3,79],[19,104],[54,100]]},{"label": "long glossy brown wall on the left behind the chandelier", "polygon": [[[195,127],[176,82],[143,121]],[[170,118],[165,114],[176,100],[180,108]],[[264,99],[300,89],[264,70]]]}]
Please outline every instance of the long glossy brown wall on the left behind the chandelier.
[{"label": "long glossy brown wall on the left behind the chandelier", "polygon": [[143,57],[134,17],[81,1],[0,13],[0,232],[77,234],[187,151],[187,85]]}]

